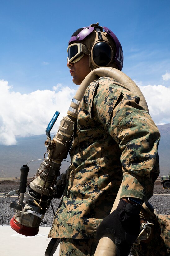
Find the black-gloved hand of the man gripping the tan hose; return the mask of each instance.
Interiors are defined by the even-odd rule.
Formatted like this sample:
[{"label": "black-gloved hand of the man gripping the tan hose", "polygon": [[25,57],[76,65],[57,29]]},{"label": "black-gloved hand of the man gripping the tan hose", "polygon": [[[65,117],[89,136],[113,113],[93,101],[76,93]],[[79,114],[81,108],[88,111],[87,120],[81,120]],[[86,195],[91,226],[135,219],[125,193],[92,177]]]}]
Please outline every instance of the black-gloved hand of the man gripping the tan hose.
[{"label": "black-gloved hand of the man gripping the tan hose", "polygon": [[120,199],[117,209],[103,219],[97,229],[97,240],[105,234],[113,235],[117,256],[129,254],[140,231],[139,213],[142,206]]}]

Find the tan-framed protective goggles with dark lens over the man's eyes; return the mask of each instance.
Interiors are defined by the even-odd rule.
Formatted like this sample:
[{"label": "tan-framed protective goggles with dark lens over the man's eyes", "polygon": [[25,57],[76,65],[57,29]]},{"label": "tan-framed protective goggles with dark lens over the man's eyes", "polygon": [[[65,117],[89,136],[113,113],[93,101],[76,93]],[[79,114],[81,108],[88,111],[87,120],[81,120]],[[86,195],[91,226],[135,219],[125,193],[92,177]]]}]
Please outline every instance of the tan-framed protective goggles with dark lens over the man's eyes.
[{"label": "tan-framed protective goggles with dark lens over the man's eyes", "polygon": [[89,55],[87,47],[82,43],[73,43],[67,48],[67,61],[71,63],[78,62],[84,54]]}]

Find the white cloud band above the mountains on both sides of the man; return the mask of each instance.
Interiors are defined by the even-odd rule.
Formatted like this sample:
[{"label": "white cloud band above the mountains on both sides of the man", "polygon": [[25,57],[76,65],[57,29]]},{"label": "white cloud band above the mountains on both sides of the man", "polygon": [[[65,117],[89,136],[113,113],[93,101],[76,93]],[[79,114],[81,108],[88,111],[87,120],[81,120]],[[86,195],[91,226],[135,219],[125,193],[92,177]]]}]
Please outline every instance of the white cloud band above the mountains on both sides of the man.
[{"label": "white cloud band above the mountains on both sides of the man", "polygon": [[[170,88],[163,85],[142,86],[136,82],[148,103],[150,114],[158,124],[170,123]],[[52,133],[67,116],[76,90],[57,84],[52,90],[37,90],[30,94],[15,92],[7,81],[0,80],[0,144],[15,145],[16,135],[45,134],[55,111],[60,112]]]}]

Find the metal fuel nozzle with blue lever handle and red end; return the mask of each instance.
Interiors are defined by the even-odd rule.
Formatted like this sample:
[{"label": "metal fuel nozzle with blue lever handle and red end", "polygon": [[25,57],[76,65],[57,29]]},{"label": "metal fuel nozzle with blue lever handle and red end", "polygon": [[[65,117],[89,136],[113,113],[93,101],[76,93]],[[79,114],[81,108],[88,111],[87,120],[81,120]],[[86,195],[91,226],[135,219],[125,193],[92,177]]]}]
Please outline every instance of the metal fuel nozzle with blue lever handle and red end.
[{"label": "metal fuel nozzle with blue lever handle and red end", "polygon": [[[46,129],[47,142],[45,146],[48,157],[40,164],[36,175],[28,185],[27,192],[26,183],[29,168],[27,165],[21,167],[18,190],[19,201],[13,201],[10,205],[15,211],[15,215],[10,221],[11,228],[26,236],[34,236],[38,233],[39,225],[51,204],[54,194],[55,196],[60,195],[55,189],[55,186],[58,186],[56,180],[60,175],[61,162],[67,157],[71,147],[73,124],[76,120],[71,116],[63,117],[57,134],[51,140],[50,131],[58,115],[59,112],[56,111]],[[63,188],[64,185],[61,187]],[[25,201],[24,194],[26,194]]]}]

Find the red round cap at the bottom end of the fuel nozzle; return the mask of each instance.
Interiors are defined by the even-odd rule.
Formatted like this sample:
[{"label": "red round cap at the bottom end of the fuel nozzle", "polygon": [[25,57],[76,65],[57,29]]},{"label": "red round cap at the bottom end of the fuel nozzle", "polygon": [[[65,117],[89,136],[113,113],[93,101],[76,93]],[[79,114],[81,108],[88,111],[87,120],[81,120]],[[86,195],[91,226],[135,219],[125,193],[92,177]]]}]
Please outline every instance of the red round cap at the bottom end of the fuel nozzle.
[{"label": "red round cap at the bottom end of the fuel nozzle", "polygon": [[16,232],[25,236],[35,236],[36,234],[38,234],[38,231],[39,231],[39,228],[29,228],[29,227],[23,226],[19,222],[15,222],[15,217],[13,217],[10,220],[10,226]]}]

